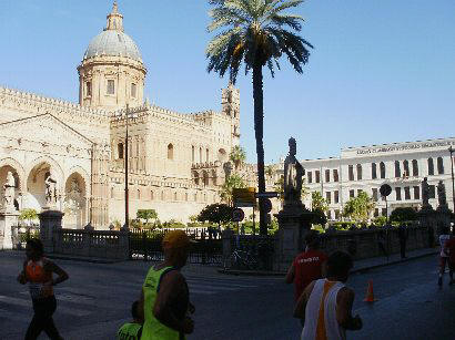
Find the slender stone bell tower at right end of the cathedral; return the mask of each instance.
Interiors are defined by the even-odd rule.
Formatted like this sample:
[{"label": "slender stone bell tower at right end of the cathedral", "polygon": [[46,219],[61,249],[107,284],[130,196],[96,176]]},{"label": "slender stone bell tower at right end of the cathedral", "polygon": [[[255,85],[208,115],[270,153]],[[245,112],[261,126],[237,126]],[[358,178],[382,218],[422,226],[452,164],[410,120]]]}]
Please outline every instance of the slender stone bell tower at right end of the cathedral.
[{"label": "slender stone bell tower at right end of the cathedral", "polygon": [[232,146],[240,143],[240,91],[230,82],[221,94],[222,112],[231,117]]}]

